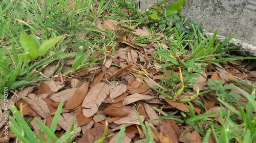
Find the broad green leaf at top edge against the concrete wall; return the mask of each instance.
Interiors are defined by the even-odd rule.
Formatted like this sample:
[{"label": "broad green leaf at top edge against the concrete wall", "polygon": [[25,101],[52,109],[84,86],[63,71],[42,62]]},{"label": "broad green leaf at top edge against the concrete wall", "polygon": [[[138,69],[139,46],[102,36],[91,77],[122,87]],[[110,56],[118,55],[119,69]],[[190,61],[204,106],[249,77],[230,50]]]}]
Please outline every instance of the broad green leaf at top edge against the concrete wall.
[{"label": "broad green leaf at top edge against the concrete wall", "polygon": [[169,16],[180,12],[183,9],[184,5],[185,0],[178,0],[177,2],[170,4],[165,10],[165,15]]}]

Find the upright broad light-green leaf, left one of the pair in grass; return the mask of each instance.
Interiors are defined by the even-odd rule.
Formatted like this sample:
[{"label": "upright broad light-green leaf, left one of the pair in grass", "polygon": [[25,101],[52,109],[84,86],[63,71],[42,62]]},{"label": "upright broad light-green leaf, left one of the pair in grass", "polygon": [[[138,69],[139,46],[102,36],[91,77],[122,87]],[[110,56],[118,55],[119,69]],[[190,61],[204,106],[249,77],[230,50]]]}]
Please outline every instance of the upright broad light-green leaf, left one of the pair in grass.
[{"label": "upright broad light-green leaf, left one of the pair in grass", "polygon": [[29,51],[29,49],[36,50],[38,48],[38,44],[35,41],[33,35],[27,35],[26,33],[20,34],[19,37],[20,43],[22,43],[22,47],[25,52]]}]

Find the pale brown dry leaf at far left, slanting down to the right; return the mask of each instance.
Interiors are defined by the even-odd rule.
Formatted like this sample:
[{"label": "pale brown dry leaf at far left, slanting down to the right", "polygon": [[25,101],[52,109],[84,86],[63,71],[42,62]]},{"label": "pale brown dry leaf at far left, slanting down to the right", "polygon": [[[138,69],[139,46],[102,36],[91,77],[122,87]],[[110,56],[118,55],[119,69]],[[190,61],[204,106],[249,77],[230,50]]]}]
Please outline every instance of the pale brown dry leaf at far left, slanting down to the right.
[{"label": "pale brown dry leaf at far left, slanting down to the right", "polygon": [[41,97],[38,97],[35,94],[29,94],[28,97],[23,96],[22,99],[25,100],[40,117],[46,119],[47,116],[50,115],[47,103]]}]

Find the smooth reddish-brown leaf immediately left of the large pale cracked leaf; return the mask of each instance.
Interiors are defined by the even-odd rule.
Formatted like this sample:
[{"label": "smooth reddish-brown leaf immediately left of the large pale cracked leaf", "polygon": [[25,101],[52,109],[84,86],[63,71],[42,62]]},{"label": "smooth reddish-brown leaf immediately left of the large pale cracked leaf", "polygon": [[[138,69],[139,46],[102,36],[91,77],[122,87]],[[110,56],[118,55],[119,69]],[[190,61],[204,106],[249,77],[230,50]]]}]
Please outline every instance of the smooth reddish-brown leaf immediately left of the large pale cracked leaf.
[{"label": "smooth reddish-brown leaf immediately left of the large pale cracked leaf", "polygon": [[80,105],[83,99],[86,97],[89,88],[89,82],[83,83],[81,87],[79,87],[73,97],[65,104],[65,107],[70,110],[74,109],[78,105]]}]

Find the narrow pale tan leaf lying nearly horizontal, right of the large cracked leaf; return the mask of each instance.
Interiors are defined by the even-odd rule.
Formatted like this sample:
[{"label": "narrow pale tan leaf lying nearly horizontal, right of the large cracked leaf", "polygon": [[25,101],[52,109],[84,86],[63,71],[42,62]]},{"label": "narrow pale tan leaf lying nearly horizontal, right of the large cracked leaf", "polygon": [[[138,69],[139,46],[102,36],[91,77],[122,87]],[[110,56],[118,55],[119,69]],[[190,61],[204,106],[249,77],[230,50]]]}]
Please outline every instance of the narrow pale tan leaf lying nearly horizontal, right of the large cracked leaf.
[{"label": "narrow pale tan leaf lying nearly horizontal, right of the large cracked leaf", "polygon": [[142,94],[135,93],[135,94],[126,96],[123,100],[123,103],[124,103],[124,105],[127,105],[130,103],[139,101],[139,100],[151,100],[151,99],[154,99],[154,97],[149,96],[149,95],[142,95]]}]

